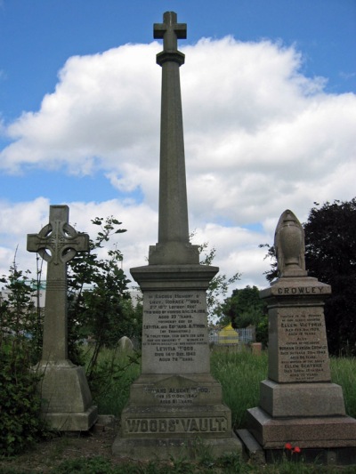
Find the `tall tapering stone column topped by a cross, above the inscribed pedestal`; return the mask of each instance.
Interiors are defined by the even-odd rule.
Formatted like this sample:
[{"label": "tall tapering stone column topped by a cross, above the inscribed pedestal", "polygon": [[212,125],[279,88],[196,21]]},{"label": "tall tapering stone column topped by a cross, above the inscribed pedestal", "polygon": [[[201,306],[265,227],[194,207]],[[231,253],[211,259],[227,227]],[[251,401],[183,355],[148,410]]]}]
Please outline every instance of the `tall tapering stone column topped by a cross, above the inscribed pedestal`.
[{"label": "tall tapering stone column topped by a cross, above the inscribed pedestal", "polygon": [[184,54],[177,50],[177,38],[185,38],[186,33],[186,25],[177,23],[174,12],[166,12],[164,22],[154,25],[154,37],[163,38],[164,50],[157,55],[162,67],[161,140],[158,244],[150,246],[152,265],[198,263],[198,248],[189,242],[179,75]]}]

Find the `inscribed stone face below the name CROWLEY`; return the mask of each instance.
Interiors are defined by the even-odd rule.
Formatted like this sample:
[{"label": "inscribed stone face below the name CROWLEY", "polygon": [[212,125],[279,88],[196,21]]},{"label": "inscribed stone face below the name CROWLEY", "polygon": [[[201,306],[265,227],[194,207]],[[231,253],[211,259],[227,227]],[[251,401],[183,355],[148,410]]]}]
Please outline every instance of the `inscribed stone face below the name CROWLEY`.
[{"label": "inscribed stone face below the name CROWLEY", "polygon": [[[323,309],[277,309],[271,328],[269,377],[276,382],[328,382],[330,369]],[[273,337],[273,329],[276,332]],[[277,373],[275,368],[277,366]]]}]

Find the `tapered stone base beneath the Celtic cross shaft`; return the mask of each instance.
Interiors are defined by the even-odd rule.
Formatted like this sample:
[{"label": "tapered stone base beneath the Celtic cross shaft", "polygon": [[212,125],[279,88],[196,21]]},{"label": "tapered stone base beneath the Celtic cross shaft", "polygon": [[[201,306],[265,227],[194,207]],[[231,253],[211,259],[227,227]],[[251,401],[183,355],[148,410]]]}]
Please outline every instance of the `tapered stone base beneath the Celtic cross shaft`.
[{"label": "tapered stone base beneath the Celtic cross shaft", "polygon": [[69,360],[41,361],[36,371],[43,374],[39,383],[42,416],[53,430],[87,431],[98,417],[83,367]]}]

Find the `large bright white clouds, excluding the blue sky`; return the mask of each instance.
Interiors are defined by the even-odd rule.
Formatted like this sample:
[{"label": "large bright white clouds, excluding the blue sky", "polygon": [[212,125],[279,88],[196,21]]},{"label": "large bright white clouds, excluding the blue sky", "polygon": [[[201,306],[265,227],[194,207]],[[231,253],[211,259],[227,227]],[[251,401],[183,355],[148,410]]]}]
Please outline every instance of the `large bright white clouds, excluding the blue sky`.
[{"label": "large bright white clouds, excluding the blue sky", "polygon": [[[99,214],[123,221],[126,269],[145,264],[157,239],[160,50],[158,43],[126,44],[69,58],[41,108],[7,126],[12,143],[0,155],[12,173],[28,165],[77,174],[100,169],[108,186],[141,189],[140,205],[69,203],[78,229],[90,231]],[[272,243],[285,209],[305,221],[314,201],[354,196],[356,97],[328,94],[326,79],[303,76],[295,47],[225,37],[182,51],[190,229],[216,247],[224,273],[240,271],[243,283],[264,285],[269,263],[258,245]],[[3,204],[2,268],[15,240],[48,220],[48,205],[41,197]],[[257,222],[263,230],[244,229]]]}]

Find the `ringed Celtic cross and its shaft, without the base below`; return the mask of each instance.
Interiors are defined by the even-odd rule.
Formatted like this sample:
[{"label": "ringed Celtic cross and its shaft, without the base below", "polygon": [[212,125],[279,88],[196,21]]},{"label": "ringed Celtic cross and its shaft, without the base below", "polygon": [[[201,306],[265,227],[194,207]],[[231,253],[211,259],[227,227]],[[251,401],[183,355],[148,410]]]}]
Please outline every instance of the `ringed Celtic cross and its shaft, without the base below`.
[{"label": "ringed Celtic cross and its shaft, without the base below", "polygon": [[47,261],[42,359],[68,358],[67,263],[77,252],[89,250],[89,236],[69,225],[68,205],[51,205],[50,222],[38,234],[28,234],[28,252]]}]

